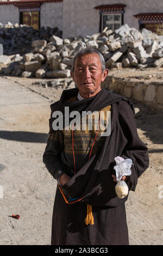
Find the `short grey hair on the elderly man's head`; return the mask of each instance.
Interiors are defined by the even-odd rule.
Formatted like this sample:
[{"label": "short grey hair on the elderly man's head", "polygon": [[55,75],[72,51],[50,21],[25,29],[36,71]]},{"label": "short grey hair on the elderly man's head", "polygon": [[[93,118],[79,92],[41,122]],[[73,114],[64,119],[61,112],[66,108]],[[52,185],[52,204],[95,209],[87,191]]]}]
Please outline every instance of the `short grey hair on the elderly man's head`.
[{"label": "short grey hair on the elderly man's head", "polygon": [[76,56],[73,58],[72,67],[71,67],[72,74],[74,72],[74,64],[76,62],[76,58],[78,58],[79,56],[83,56],[85,54],[91,54],[91,53],[97,53],[98,54],[98,56],[100,58],[100,61],[101,61],[102,73],[104,72],[106,66],[105,66],[105,60],[104,60],[104,57],[103,57],[102,53],[99,52],[96,48],[87,47],[87,48],[83,48],[82,50],[78,51],[76,53]]}]

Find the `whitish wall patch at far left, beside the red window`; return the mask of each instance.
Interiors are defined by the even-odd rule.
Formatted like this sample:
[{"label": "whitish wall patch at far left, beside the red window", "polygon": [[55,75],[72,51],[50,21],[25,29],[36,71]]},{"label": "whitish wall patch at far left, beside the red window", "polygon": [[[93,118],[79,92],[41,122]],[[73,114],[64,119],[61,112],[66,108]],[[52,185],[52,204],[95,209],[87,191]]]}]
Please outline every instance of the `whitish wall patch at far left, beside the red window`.
[{"label": "whitish wall patch at far left, beside the red window", "polygon": [[0,22],[6,24],[8,22],[12,24],[19,23],[19,11],[14,5],[0,5]]}]

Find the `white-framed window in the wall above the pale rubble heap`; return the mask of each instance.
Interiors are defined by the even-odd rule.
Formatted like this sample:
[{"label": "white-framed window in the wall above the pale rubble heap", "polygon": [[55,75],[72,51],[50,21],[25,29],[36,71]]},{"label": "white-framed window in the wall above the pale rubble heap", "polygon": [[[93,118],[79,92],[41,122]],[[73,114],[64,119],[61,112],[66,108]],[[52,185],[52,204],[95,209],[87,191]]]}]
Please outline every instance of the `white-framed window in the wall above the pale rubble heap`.
[{"label": "white-framed window in the wall above the pale rubble heap", "polygon": [[102,28],[103,31],[105,27],[115,31],[122,26],[122,14],[102,14]]}]

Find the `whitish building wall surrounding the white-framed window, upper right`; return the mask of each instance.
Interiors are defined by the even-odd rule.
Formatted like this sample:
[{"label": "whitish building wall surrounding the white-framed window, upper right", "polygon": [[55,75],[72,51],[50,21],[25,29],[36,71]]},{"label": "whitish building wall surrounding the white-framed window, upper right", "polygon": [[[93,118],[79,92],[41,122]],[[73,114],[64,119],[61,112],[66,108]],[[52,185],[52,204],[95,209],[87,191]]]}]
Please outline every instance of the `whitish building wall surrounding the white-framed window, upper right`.
[{"label": "whitish building wall surrounding the white-framed window, upper right", "polygon": [[124,24],[139,29],[138,20],[133,17],[139,13],[161,13],[162,0],[64,0],[63,1],[63,38],[67,36],[92,35],[99,32],[99,10],[102,4],[126,4]]}]

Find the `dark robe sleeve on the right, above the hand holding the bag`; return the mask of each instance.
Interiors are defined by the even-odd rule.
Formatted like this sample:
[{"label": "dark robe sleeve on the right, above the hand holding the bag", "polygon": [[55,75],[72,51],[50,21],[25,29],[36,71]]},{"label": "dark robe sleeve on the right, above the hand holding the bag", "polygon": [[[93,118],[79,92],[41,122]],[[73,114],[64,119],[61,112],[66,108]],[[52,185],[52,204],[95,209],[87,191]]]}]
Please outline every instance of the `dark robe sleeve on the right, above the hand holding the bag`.
[{"label": "dark robe sleeve on the right, above the hand holding the bag", "polygon": [[131,175],[128,177],[127,185],[129,190],[135,191],[137,179],[149,167],[148,149],[137,134],[134,112],[129,103],[120,101],[119,123],[123,135],[127,138],[127,145],[124,148],[121,157],[131,159],[134,164],[131,166]]}]

